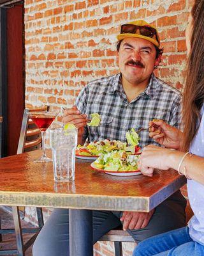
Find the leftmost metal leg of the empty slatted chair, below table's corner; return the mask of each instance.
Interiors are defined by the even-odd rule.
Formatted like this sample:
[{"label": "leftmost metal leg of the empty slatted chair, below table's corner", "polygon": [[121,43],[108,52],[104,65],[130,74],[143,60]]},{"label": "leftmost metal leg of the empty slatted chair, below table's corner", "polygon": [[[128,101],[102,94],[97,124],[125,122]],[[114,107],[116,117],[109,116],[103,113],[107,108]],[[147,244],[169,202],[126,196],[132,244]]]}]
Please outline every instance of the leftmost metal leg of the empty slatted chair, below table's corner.
[{"label": "leftmost metal leg of the empty slatted chair, below table's corner", "polygon": [[17,206],[12,206],[13,211],[13,221],[15,227],[15,234],[17,238],[17,248],[18,248],[18,256],[25,256],[24,253],[24,241],[22,236],[22,229],[20,223],[20,214]]}]

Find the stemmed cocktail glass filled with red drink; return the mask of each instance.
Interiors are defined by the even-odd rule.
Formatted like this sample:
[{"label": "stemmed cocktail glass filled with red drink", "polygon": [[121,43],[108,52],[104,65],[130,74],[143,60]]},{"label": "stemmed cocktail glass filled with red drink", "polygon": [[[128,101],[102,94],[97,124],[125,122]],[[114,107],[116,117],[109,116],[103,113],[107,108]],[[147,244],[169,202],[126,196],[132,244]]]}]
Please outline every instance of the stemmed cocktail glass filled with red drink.
[{"label": "stemmed cocktail glass filled with red drink", "polygon": [[48,112],[48,111],[38,111],[38,112],[30,112],[29,118],[31,118],[38,126],[38,128],[41,131],[42,136],[42,150],[43,154],[40,158],[34,160],[35,162],[50,162],[52,159],[48,158],[45,153],[45,131],[47,128],[52,124],[52,122],[55,120],[55,117],[59,113],[56,112]]}]

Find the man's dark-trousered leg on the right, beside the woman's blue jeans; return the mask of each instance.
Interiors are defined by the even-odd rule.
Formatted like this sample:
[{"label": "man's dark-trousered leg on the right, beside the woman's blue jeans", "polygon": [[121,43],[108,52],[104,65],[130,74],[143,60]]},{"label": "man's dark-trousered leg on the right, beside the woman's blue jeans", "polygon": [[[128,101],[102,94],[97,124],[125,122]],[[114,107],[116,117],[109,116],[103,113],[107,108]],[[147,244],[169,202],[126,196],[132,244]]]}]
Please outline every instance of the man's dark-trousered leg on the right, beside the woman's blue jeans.
[{"label": "man's dark-trousered leg on the right, beside the woman's blue jeans", "polygon": [[[157,234],[184,227],[186,225],[185,208],[186,200],[180,191],[177,191],[156,207],[147,227],[128,230],[128,232],[133,236],[136,243],[140,243],[144,239]],[[114,214],[119,218],[122,216],[122,212],[120,216],[119,212],[114,212]]]}]

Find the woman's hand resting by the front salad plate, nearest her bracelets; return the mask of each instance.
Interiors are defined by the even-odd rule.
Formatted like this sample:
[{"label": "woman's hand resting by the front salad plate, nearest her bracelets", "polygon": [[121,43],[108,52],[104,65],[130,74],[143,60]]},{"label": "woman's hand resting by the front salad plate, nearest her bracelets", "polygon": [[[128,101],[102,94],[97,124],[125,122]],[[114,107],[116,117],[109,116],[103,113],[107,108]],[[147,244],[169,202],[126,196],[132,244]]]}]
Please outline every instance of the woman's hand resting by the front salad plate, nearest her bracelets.
[{"label": "woman's hand resting by the front salad plate, nearest her bracelets", "polygon": [[175,150],[149,145],[143,148],[138,162],[138,169],[143,175],[152,177],[154,168],[168,170],[171,168],[171,153]]}]

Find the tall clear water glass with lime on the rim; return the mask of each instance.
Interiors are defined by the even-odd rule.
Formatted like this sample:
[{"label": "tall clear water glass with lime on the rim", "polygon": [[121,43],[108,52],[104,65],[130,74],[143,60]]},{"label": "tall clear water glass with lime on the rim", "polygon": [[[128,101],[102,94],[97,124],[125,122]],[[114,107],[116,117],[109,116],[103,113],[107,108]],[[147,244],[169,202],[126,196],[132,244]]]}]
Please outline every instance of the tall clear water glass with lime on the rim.
[{"label": "tall clear water glass with lime on the rim", "polygon": [[75,180],[75,150],[77,129],[50,129],[50,147],[54,165],[54,180],[68,182]]}]

